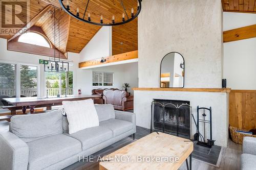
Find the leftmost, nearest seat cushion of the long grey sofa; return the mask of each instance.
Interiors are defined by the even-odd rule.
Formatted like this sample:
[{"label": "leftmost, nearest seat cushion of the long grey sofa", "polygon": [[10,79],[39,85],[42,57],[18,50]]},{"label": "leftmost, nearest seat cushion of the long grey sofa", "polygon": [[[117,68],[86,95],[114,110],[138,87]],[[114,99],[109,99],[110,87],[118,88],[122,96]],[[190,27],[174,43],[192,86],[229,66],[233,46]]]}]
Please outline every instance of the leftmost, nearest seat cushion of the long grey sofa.
[{"label": "leftmost, nearest seat cushion of the long grey sofa", "polygon": [[81,142],[64,134],[28,142],[28,169],[44,169],[82,151]]}]

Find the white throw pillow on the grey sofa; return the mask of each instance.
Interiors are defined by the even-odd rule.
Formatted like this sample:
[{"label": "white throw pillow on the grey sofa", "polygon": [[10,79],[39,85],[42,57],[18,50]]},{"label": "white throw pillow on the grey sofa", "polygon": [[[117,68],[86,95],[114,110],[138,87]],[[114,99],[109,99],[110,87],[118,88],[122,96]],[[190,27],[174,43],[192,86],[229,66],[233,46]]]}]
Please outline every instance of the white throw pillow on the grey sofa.
[{"label": "white throw pillow on the grey sofa", "polygon": [[69,122],[69,134],[99,126],[99,117],[93,100],[63,101],[62,105]]}]

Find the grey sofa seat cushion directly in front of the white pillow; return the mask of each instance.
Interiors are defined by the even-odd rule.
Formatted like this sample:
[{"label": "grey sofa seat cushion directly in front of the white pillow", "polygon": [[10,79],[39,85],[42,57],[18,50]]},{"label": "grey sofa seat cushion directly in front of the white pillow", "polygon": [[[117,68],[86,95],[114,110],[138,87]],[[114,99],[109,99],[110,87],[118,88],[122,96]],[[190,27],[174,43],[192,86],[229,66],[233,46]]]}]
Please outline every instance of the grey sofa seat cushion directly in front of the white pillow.
[{"label": "grey sofa seat cushion directly in front of the white pillow", "polygon": [[100,126],[83,129],[76,133],[66,135],[79,140],[82,143],[83,151],[92,148],[95,145],[100,144],[113,137],[113,133],[110,129]]}]

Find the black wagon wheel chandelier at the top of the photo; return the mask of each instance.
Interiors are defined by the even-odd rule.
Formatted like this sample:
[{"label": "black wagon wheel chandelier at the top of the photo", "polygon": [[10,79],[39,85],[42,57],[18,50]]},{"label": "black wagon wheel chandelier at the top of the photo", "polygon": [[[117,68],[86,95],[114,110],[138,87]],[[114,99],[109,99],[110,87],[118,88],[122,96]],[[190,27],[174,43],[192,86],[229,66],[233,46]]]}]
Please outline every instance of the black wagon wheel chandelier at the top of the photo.
[{"label": "black wagon wheel chandelier at the top of the photo", "polygon": [[[129,0],[130,1],[130,0]],[[94,22],[91,20],[91,14],[88,13],[88,17],[86,17],[86,12],[90,3],[90,0],[88,0],[87,4],[86,4],[86,9],[83,12],[83,15],[79,14],[79,7],[77,7],[76,9],[76,13],[73,13],[72,10],[70,9],[70,4],[69,4],[69,0],[66,1],[66,5],[63,4],[63,0],[59,0],[59,4],[60,6],[63,8],[63,10],[65,10],[69,15],[73,16],[74,18],[81,20],[83,22],[87,22],[87,23],[91,23],[93,25],[97,25],[97,26],[118,26],[118,25],[122,25],[124,23],[130,22],[132,20],[134,20],[140,13],[141,11],[141,1],[142,0],[137,0],[138,1],[138,5],[137,5],[137,12],[134,13],[134,9],[131,9],[131,17],[129,17],[129,15],[126,12],[126,9],[123,5],[123,1],[120,0],[120,4],[123,8],[123,13],[122,13],[122,21],[121,22],[115,22],[115,15],[112,16],[112,23],[106,23],[103,21],[103,16],[100,15],[99,16],[99,22]],[[125,19],[125,15],[126,15],[126,19]]]}]

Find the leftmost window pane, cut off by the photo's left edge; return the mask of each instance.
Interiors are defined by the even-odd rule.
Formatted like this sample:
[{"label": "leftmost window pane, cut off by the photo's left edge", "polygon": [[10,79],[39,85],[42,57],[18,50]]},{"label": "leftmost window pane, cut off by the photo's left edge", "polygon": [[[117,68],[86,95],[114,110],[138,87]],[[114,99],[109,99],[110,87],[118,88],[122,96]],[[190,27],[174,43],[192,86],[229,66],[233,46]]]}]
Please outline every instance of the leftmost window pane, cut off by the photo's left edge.
[{"label": "leftmost window pane, cut off by the photo's left edge", "polygon": [[0,106],[8,105],[2,98],[15,95],[15,82],[15,65],[0,63]]}]

